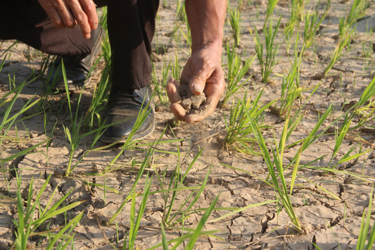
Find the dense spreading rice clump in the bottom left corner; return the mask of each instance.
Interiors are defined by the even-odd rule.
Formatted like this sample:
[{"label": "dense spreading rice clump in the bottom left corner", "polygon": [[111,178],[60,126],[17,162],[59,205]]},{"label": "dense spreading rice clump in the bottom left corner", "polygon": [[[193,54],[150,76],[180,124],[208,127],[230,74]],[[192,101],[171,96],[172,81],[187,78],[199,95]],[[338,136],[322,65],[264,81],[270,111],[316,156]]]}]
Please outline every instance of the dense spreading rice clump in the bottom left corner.
[{"label": "dense spreading rice clump in the bottom left corner", "polygon": [[[17,173],[17,172],[16,172]],[[67,210],[71,210],[75,208],[76,206],[80,205],[84,201],[76,201],[74,203],[71,203],[67,206],[63,206],[62,208],[58,208],[65,199],[69,196],[69,194],[72,192],[69,191],[67,194],[65,194],[64,197],[59,199],[56,203],[54,203],[51,206],[51,202],[53,201],[53,197],[56,194],[57,187],[53,191],[51,198],[47,202],[47,205],[45,208],[42,208],[40,205],[40,198],[46,189],[49,180],[51,178],[51,175],[48,176],[47,180],[42,185],[42,188],[40,189],[40,192],[38,192],[38,195],[35,199],[33,199],[33,192],[35,192],[33,188],[33,179],[31,179],[30,186],[28,188],[28,196],[27,200],[24,201],[22,199],[22,191],[20,189],[21,186],[21,176],[17,176],[17,215],[18,219],[13,220],[13,223],[16,226],[16,232],[15,232],[15,249],[17,250],[26,250],[27,249],[27,243],[28,239],[34,235],[35,230],[48,222],[49,219],[52,217],[56,217],[57,215],[61,215],[65,213]],[[33,204],[32,204],[33,201]],[[49,208],[51,206],[51,208]],[[47,246],[47,249],[55,249],[55,243],[60,240],[60,243],[58,244],[58,249],[65,249],[67,247],[67,244],[72,241],[73,236],[69,236],[69,234],[72,232],[72,228],[78,224],[78,222],[81,220],[83,213],[79,213],[74,217],[74,219],[71,219],[68,224],[63,226],[63,228],[60,228],[59,233],[52,234],[49,232],[44,233],[38,233],[38,235],[48,235],[48,237],[51,239],[49,241],[49,245]],[[36,217],[35,217],[36,216]],[[70,228],[70,229],[69,229]],[[63,235],[65,231],[68,231],[67,235]]]}]

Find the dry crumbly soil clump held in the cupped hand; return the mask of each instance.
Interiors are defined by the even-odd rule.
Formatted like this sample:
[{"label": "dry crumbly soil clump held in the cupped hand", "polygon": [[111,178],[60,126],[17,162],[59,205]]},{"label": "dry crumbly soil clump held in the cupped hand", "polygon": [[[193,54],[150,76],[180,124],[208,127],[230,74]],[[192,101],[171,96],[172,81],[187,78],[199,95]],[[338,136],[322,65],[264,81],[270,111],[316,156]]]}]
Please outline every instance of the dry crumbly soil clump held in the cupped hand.
[{"label": "dry crumbly soil clump held in the cupped hand", "polygon": [[206,101],[206,95],[203,92],[199,95],[193,94],[188,84],[180,84],[178,86],[178,93],[182,99],[181,106],[190,114],[198,113],[200,107]]}]

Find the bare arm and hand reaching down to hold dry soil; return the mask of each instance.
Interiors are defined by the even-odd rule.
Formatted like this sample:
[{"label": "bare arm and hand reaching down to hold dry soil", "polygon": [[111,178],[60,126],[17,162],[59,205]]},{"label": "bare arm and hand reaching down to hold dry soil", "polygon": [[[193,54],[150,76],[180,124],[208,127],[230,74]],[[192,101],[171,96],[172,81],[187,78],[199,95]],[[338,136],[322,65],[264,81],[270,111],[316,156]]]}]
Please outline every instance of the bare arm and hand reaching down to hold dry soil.
[{"label": "bare arm and hand reaching down to hold dry soil", "polygon": [[194,94],[206,94],[203,113],[188,115],[180,105],[178,84],[169,81],[167,92],[176,119],[200,122],[211,115],[225,89],[222,70],[222,40],[226,0],[186,0],[186,12],[192,33],[192,55],[188,59],[181,81],[189,83]]}]

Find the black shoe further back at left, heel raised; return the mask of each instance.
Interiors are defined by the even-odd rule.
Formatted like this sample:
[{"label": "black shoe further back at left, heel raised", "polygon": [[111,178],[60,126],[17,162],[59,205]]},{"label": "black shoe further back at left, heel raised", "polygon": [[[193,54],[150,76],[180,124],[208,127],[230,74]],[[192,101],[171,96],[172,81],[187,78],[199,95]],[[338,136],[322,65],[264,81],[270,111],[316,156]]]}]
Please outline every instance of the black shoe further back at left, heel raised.
[{"label": "black shoe further back at left, heel raised", "polygon": [[88,83],[88,75],[90,73],[94,58],[101,50],[101,35],[103,28],[99,26],[96,30],[92,31],[93,47],[90,55],[82,60],[72,60],[67,57],[58,56],[50,65],[47,72],[47,84],[53,89],[65,90],[63,79],[63,71],[61,69],[61,61],[64,62],[65,73],[67,75],[67,84],[69,90],[77,90],[83,88],[85,83]]}]

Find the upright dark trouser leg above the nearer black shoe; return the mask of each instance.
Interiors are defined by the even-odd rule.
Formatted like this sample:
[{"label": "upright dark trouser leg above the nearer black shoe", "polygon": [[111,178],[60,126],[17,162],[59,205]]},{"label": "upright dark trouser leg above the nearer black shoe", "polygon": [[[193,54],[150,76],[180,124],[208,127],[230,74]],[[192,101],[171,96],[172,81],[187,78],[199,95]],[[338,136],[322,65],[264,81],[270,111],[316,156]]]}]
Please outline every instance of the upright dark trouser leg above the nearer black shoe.
[{"label": "upright dark trouser leg above the nearer black shoe", "polygon": [[108,1],[108,33],[113,50],[111,93],[149,85],[158,6],[159,0]]}]

